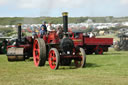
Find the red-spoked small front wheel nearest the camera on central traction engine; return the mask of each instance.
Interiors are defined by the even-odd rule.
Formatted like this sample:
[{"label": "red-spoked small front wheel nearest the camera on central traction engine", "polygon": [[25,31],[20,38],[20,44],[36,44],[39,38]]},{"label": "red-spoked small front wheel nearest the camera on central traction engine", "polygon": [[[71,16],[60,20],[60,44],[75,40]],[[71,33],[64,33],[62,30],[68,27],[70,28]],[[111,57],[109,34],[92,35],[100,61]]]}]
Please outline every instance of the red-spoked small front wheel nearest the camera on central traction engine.
[{"label": "red-spoked small front wheel nearest the camera on central traction engine", "polygon": [[49,57],[48,57],[49,66],[51,69],[58,69],[59,62],[60,62],[60,55],[56,48],[51,48],[49,51]]}]

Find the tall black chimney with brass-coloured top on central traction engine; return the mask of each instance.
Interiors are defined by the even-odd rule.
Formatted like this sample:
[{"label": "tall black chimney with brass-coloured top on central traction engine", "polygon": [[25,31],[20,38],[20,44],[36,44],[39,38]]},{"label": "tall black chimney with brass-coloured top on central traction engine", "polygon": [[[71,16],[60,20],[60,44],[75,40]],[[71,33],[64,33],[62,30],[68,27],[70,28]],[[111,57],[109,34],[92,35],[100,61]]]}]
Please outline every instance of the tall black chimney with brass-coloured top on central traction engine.
[{"label": "tall black chimney with brass-coloured top on central traction engine", "polygon": [[62,13],[63,16],[63,29],[64,32],[68,32],[68,12],[63,12]]}]

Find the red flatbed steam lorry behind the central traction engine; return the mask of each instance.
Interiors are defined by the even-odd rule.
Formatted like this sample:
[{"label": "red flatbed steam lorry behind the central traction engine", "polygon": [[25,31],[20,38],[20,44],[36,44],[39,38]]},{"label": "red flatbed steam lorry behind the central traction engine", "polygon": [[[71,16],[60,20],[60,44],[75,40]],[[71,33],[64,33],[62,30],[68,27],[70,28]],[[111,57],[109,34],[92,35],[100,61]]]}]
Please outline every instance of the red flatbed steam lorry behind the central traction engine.
[{"label": "red flatbed steam lorry behind the central traction engine", "polygon": [[86,54],[103,54],[108,51],[108,47],[113,45],[113,38],[89,37],[83,32],[71,32],[70,37],[76,48],[82,47]]}]

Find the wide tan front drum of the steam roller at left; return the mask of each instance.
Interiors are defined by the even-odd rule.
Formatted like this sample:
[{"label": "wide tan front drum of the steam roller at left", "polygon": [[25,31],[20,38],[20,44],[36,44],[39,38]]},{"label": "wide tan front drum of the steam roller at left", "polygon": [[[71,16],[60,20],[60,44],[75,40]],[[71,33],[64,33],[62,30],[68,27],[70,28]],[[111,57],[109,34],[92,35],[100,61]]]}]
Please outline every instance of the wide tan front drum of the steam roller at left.
[{"label": "wide tan front drum of the steam roller at left", "polygon": [[24,61],[24,48],[8,48],[7,58],[8,61]]}]

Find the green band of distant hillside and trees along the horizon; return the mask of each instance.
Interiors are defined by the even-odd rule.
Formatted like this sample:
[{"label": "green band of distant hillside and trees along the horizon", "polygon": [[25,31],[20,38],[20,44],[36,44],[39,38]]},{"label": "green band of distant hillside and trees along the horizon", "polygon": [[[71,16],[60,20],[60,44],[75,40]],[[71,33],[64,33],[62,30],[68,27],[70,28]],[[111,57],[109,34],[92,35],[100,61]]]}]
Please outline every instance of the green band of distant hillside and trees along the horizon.
[{"label": "green band of distant hillside and trees along the horizon", "polygon": [[[128,17],[69,17],[69,23],[82,23],[91,19],[94,23],[115,23],[128,21]],[[62,24],[62,17],[1,17],[0,25],[23,24],[41,24],[42,21],[47,23]]]}]

